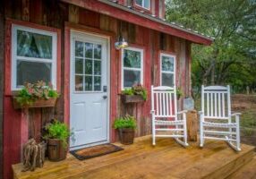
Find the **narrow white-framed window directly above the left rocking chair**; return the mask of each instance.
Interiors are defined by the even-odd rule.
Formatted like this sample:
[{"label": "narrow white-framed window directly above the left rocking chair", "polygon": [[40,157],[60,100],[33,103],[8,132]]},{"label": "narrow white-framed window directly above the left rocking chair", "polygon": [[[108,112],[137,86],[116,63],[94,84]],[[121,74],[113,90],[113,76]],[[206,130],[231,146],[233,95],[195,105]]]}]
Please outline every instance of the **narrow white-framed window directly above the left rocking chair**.
[{"label": "narrow white-framed window directly above the left rocking chair", "polygon": [[161,86],[175,85],[175,55],[160,55],[161,58]]}]

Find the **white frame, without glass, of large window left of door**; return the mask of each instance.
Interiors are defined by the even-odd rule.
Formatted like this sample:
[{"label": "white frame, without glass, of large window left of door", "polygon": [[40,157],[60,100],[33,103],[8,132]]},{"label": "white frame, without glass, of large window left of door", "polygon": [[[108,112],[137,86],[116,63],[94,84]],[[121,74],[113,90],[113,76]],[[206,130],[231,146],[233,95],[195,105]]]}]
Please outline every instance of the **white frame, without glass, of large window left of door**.
[{"label": "white frame, without glass, of large window left of door", "polygon": [[[37,33],[40,35],[46,35],[52,37],[52,58],[37,58],[37,57],[27,57],[27,56],[19,56],[17,55],[17,31],[23,30],[28,31],[30,33]],[[12,65],[12,81],[11,81],[11,90],[21,90],[22,86],[17,86],[17,61],[20,59],[23,62],[36,62],[36,63],[48,63],[51,64],[51,83],[53,85],[54,90],[57,90],[57,32],[50,31],[50,30],[40,30],[37,28],[30,28],[29,26],[23,25],[12,25],[12,58],[11,58],[11,65]]]}]

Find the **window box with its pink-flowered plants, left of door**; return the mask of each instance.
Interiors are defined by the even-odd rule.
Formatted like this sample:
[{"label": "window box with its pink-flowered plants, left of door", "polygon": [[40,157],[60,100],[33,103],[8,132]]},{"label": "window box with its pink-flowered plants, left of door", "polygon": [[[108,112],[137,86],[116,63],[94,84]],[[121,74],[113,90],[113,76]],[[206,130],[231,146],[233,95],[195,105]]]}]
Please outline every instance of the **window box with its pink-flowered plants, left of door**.
[{"label": "window box with its pink-flowered plants, left of door", "polygon": [[59,94],[53,90],[51,84],[44,81],[25,83],[18,95],[13,98],[14,108],[23,107],[55,107],[56,98]]}]

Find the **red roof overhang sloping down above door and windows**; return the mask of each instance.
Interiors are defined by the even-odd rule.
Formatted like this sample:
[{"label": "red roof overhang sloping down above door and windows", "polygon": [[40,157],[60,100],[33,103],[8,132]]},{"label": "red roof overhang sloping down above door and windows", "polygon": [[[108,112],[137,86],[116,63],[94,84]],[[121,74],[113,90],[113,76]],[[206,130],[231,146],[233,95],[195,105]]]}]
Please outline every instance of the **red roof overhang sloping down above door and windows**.
[{"label": "red roof overhang sloping down above door and windows", "polygon": [[201,35],[195,31],[184,29],[180,26],[152,17],[148,14],[135,11],[121,4],[116,4],[108,0],[61,0],[67,4],[74,4],[93,12],[106,14],[122,21],[128,21],[151,30],[184,38],[192,43],[209,46],[213,39]]}]

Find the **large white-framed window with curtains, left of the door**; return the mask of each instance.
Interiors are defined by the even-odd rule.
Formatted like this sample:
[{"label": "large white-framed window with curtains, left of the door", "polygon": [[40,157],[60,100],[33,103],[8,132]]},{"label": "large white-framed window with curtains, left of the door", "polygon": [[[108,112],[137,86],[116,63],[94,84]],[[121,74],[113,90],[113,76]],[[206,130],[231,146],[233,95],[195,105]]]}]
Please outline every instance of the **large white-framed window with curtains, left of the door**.
[{"label": "large white-framed window with curtains, left of the door", "polygon": [[56,88],[56,33],[13,25],[12,90],[36,81]]}]

